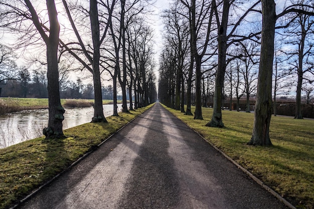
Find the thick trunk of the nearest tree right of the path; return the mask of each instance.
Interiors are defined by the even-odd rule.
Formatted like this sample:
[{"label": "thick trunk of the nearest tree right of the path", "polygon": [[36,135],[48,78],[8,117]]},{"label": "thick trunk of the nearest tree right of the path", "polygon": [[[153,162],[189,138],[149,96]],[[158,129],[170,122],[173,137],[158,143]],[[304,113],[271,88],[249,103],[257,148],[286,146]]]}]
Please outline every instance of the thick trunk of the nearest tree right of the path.
[{"label": "thick trunk of the nearest tree right of the path", "polygon": [[262,0],[262,42],[257,81],[257,99],[254,112],[254,125],[249,145],[272,145],[269,126],[272,113],[272,67],[274,59],[274,37],[276,5],[274,0]]}]

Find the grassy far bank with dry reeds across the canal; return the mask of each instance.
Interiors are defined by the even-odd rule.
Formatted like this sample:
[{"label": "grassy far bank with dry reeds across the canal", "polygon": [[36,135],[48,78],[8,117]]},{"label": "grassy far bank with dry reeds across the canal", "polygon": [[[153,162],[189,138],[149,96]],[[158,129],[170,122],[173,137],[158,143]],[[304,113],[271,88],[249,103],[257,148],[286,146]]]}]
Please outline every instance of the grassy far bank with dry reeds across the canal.
[{"label": "grassy far bank with dry reeds across the canal", "polygon": [[[122,100],[117,101],[118,104]],[[61,99],[63,107],[91,107],[93,99]],[[102,100],[102,104],[113,104],[113,100]],[[48,109],[48,98],[0,98],[0,115],[23,110]]]}]

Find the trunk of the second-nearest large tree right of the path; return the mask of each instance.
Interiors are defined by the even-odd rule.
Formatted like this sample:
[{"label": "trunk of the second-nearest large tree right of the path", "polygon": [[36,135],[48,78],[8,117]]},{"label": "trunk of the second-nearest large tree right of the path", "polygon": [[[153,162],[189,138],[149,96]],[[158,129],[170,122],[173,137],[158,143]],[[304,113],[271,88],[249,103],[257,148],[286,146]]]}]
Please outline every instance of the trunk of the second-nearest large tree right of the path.
[{"label": "trunk of the second-nearest large tree right of the path", "polygon": [[224,127],[221,114],[221,102],[223,99],[222,90],[226,72],[226,52],[227,52],[227,26],[229,17],[229,0],[224,0],[221,25],[218,27],[218,68],[215,81],[214,111],[212,120],[206,124],[210,127]]}]

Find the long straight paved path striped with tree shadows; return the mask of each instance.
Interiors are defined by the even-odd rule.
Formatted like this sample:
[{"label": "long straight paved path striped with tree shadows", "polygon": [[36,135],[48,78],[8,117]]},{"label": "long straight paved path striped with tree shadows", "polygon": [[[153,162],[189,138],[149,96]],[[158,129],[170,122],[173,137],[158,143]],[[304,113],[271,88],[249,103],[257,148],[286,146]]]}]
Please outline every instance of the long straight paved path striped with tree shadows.
[{"label": "long straight paved path striped with tree shadows", "polygon": [[286,207],[157,103],[21,208]]}]

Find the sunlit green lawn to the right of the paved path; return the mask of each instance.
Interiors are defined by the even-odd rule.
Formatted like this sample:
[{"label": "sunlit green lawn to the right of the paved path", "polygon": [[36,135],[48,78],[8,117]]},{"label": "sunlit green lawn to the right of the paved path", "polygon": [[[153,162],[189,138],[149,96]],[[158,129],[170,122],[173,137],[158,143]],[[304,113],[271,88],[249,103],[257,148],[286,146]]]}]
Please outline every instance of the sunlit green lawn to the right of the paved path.
[{"label": "sunlit green lawn to the right of the paved path", "polygon": [[252,136],[253,113],[224,110],[226,127],[211,128],[205,124],[212,117],[212,108],[202,109],[204,120],[167,109],[297,208],[314,208],[314,120],[273,116],[273,146],[260,147],[246,145]]}]

